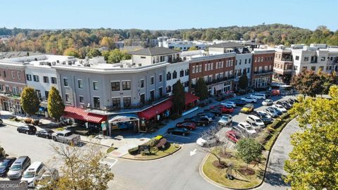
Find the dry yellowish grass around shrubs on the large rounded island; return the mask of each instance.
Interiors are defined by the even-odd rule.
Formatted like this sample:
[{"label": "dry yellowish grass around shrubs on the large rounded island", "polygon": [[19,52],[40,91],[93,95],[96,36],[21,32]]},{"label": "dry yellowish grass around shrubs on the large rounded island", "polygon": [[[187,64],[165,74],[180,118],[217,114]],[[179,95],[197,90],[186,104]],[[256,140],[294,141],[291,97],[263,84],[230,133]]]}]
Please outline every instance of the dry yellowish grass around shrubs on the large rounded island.
[{"label": "dry yellowish grass around shrubs on the large rounded island", "polygon": [[262,158],[261,163],[255,164],[249,164],[248,168],[255,171],[255,174],[253,175],[242,175],[239,172],[239,169],[245,168],[246,163],[244,163],[241,159],[236,158],[235,151],[228,151],[231,154],[230,158],[223,158],[223,161],[225,163],[232,163],[233,164],[233,170],[232,175],[235,177],[235,179],[230,180],[226,178],[227,174],[227,168],[225,169],[218,169],[213,165],[213,162],[217,160],[215,156],[209,155],[206,159],[206,162],[203,165],[203,172],[206,177],[213,180],[213,182],[216,182],[218,184],[221,184],[223,186],[227,186],[230,188],[251,188],[258,184],[261,184],[263,180],[263,172],[265,168],[265,162],[266,158]]}]

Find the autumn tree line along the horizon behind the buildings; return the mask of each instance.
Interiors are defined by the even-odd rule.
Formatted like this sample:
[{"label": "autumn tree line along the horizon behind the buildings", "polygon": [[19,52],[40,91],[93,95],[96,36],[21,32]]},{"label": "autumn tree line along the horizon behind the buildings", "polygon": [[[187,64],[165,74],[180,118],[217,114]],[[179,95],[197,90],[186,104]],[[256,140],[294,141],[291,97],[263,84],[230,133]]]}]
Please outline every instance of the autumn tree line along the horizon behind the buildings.
[{"label": "autumn tree line along the horizon behind the buildings", "polygon": [[0,28],[0,36],[9,36],[8,40],[0,39],[0,51],[39,51],[42,53],[63,54],[66,49],[74,48],[79,56],[84,56],[91,48],[106,46],[115,49],[115,43],[143,42],[149,46],[149,39],[157,37],[174,37],[187,40],[249,40],[256,39],[263,44],[311,44],[326,43],[338,45],[338,32],[333,32],[325,26],[319,26],[315,31],[294,27],[292,25],[272,24],[252,27],[218,27],[192,28],[187,30],[118,30],[111,28],[73,29],[73,30],[31,30]]}]

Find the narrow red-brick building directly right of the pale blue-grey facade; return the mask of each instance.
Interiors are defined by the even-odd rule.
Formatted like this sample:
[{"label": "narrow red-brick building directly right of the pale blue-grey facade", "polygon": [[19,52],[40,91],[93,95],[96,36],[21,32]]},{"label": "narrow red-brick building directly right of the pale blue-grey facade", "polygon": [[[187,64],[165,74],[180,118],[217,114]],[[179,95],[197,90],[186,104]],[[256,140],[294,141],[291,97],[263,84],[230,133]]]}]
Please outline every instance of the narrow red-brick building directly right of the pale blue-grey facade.
[{"label": "narrow red-brick building directly right of the pale blue-grey facade", "polygon": [[275,49],[254,49],[251,53],[253,54],[251,87],[267,88],[272,82]]}]

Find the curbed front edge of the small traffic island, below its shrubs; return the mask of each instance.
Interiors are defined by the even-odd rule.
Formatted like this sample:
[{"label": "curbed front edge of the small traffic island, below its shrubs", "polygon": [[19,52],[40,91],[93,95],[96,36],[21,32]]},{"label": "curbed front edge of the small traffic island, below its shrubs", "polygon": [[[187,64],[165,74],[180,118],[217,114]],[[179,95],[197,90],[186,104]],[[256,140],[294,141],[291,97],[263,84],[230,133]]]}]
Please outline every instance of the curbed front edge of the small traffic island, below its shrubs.
[{"label": "curbed front edge of the small traffic island, below its shrubs", "polygon": [[182,148],[182,146],[180,146],[179,144],[171,144],[169,142],[166,146],[167,147],[163,149],[151,148],[150,152],[142,152],[136,154],[127,153],[125,156],[122,156],[121,158],[126,158],[130,160],[156,160],[159,158],[163,158],[165,156],[170,156],[173,153],[179,151],[180,148]]}]

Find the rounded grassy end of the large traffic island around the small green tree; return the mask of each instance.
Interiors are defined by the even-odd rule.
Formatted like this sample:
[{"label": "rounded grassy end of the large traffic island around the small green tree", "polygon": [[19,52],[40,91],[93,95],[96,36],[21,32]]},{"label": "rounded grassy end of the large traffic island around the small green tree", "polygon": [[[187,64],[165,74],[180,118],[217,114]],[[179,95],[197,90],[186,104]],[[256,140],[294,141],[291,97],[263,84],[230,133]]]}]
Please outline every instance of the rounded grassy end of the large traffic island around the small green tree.
[{"label": "rounded grassy end of the large traffic island around the small green tree", "polygon": [[250,189],[263,182],[266,152],[263,158],[246,165],[237,158],[236,151],[227,151],[227,155],[221,156],[219,160],[209,154],[202,163],[202,175],[220,186],[230,189]]}]

